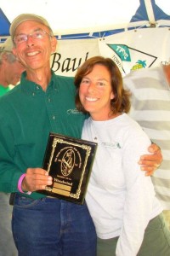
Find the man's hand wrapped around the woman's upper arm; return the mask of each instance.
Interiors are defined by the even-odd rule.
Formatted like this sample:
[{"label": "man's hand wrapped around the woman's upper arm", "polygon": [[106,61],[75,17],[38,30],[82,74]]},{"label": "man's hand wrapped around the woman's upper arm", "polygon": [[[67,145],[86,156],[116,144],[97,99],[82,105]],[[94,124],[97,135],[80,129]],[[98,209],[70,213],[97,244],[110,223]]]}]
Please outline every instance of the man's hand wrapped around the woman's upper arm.
[{"label": "man's hand wrapped around the woman's upper arm", "polygon": [[152,154],[141,155],[139,160],[140,169],[145,171],[146,176],[152,175],[161,165],[162,161],[161,148],[156,144],[152,143],[148,148],[148,151]]}]

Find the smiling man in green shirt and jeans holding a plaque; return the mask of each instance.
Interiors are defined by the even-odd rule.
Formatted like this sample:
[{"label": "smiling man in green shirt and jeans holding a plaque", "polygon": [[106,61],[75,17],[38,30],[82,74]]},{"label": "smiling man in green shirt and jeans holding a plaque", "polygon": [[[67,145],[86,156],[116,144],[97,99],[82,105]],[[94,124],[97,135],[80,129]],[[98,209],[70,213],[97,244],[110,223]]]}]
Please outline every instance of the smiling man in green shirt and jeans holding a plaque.
[{"label": "smiling man in green shirt and jeans holding a plaque", "polygon": [[[94,256],[96,233],[86,203],[80,206],[36,192],[52,184],[41,168],[49,132],[81,137],[85,117],[75,107],[73,79],[50,69],[57,41],[47,20],[19,15],[10,34],[14,55],[26,67],[20,84],[0,99],[0,190],[16,192],[16,247],[25,256]],[[141,164],[153,172],[161,154],[146,159]]]}]

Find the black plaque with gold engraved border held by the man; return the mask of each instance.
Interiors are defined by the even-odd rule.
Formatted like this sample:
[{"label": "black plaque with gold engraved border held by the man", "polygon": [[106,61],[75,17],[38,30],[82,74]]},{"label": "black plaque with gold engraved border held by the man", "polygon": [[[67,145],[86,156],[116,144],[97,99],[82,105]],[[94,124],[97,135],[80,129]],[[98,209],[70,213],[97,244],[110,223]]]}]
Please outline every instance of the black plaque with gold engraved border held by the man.
[{"label": "black plaque with gold engraved border held by the man", "polygon": [[50,133],[42,168],[53,184],[38,192],[83,204],[97,143]]}]

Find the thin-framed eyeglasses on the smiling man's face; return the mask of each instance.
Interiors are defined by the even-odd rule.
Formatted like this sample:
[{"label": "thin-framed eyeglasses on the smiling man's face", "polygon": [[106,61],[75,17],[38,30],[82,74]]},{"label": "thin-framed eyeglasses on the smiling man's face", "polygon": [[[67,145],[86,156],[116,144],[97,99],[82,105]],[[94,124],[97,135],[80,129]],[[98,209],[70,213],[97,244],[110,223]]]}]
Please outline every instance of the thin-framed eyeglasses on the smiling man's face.
[{"label": "thin-framed eyeglasses on the smiling man's face", "polygon": [[28,37],[31,37],[32,39],[43,39],[45,38],[45,35],[48,35],[49,37],[53,37],[53,35],[49,34],[48,32],[38,29],[37,31],[31,33],[31,34],[19,34],[16,37],[14,37],[14,43],[15,44],[22,44],[28,40]]}]

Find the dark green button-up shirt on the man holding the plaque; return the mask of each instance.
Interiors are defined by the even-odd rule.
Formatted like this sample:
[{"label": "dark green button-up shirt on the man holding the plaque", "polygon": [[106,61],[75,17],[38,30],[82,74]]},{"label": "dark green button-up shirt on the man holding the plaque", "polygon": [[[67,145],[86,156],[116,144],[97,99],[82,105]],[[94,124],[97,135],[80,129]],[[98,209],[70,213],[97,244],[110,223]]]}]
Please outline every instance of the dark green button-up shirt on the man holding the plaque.
[{"label": "dark green button-up shirt on the man holding the plaque", "polygon": [[20,175],[42,166],[49,132],[81,137],[85,116],[76,109],[75,93],[73,78],[52,72],[43,91],[23,73],[20,84],[0,97],[0,191],[19,192]]}]

